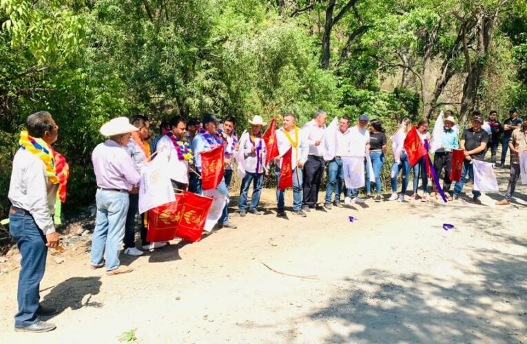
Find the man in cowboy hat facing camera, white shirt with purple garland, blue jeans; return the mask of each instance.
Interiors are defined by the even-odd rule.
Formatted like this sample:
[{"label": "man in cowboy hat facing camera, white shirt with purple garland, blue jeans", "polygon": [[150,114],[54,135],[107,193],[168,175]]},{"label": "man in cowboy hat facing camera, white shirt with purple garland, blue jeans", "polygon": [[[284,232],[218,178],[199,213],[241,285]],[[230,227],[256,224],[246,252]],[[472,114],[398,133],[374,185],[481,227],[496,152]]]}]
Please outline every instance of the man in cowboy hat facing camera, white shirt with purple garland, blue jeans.
[{"label": "man in cowboy hat facing camera, white shirt with purple garland, blue jeans", "polygon": [[247,213],[247,194],[249,193],[251,182],[253,183],[253,195],[251,196],[249,213],[254,215],[262,214],[258,210],[258,203],[262,193],[264,173],[268,173],[267,166],[265,166],[265,142],[262,139],[262,127],[267,123],[263,121],[262,116],[256,115],[252,120],[249,120],[249,124],[251,125],[251,131],[243,133],[240,138],[240,149],[243,151],[245,159],[243,162],[245,177],[242,180],[240,199],[238,200],[240,216],[245,216]]}]

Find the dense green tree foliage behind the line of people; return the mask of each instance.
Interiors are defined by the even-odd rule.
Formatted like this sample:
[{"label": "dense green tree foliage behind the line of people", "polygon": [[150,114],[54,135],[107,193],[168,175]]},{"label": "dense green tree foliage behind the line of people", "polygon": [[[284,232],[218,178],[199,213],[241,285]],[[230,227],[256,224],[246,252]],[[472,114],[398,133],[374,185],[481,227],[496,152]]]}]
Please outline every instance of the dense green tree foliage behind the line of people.
[{"label": "dense green tree foliage behind the line of people", "polygon": [[0,188],[25,117],[47,109],[75,206],[92,201],[90,152],[114,116],[302,123],[323,108],[390,128],[527,110],[519,0],[0,0],[0,25]]}]

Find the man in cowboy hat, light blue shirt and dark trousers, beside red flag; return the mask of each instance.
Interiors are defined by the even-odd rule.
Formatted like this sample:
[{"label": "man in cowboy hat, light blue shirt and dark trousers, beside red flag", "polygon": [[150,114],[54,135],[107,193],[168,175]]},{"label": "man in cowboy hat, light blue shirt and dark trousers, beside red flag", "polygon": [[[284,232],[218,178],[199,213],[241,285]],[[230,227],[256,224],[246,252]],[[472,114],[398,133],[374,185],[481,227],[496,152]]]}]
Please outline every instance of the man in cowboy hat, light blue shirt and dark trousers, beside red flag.
[{"label": "man in cowboy hat, light blue shirt and dark trousers, beside red flag", "polygon": [[452,149],[459,149],[457,133],[452,127],[455,125],[455,119],[451,110],[445,111],[446,118],[443,120],[443,136],[441,147],[434,154],[434,170],[439,178],[441,171],[444,169],[443,191],[450,191],[452,180],[450,172],[452,169]]}]

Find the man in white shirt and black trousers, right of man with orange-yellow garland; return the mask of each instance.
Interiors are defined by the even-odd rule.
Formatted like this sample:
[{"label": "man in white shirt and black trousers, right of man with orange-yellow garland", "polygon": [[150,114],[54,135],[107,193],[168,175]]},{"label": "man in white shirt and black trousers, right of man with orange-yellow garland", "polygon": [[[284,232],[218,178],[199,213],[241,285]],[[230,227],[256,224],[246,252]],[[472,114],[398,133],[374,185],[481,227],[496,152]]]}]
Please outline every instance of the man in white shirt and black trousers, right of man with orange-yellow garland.
[{"label": "man in white shirt and black trousers, right of man with orange-yellow garland", "polygon": [[317,110],[313,116],[313,120],[307,122],[302,131],[307,137],[309,144],[309,153],[307,161],[304,164],[304,198],[302,200],[302,208],[304,211],[316,208],[318,202],[318,191],[320,191],[320,184],[322,184],[322,174],[324,174],[324,151],[322,145],[322,138],[326,130],[327,114],[326,111]]}]

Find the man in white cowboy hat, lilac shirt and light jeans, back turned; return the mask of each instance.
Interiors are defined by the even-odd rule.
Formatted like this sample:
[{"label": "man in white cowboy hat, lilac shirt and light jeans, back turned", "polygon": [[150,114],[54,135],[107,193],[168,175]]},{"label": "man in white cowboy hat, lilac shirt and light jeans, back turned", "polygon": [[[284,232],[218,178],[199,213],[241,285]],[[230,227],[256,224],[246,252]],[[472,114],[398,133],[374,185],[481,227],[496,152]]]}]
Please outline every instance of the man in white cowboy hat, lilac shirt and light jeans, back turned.
[{"label": "man in white cowboy hat, lilac shirt and light jeans, back turned", "polygon": [[[124,147],[130,142],[132,132],[138,129],[126,117],[118,117],[101,127],[101,134],[108,140],[99,143],[92,153],[97,182],[95,200],[97,215],[92,236],[92,269],[106,266],[107,275],[132,272],[121,265],[119,251],[125,235],[125,221],[130,198],[128,193],[136,188],[140,176]],[[106,261],[103,259],[106,252]]]}]

